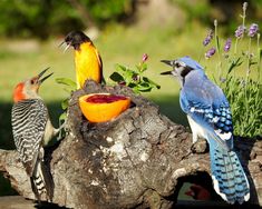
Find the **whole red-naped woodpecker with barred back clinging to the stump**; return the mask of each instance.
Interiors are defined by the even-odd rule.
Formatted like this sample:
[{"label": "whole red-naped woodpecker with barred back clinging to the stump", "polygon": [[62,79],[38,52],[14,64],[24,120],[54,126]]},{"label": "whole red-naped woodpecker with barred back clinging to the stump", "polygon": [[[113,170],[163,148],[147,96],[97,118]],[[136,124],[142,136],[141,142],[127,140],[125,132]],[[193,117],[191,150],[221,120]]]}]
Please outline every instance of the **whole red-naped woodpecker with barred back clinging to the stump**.
[{"label": "whole red-naped woodpecker with barred back clinging to the stump", "polygon": [[52,198],[52,181],[43,163],[43,146],[59,132],[52,127],[48,109],[38,94],[40,84],[52,74],[41,78],[47,70],[17,84],[11,117],[14,145],[38,200]]}]

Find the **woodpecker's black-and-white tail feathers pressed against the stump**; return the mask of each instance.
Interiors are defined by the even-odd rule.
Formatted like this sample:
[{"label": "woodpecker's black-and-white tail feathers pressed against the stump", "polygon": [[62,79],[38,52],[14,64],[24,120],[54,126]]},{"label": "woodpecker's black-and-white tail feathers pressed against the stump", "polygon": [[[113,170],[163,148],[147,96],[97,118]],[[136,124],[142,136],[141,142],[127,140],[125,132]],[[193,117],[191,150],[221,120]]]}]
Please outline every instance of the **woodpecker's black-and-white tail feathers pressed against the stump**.
[{"label": "woodpecker's black-and-white tail feathers pressed against the stump", "polygon": [[52,179],[43,161],[36,163],[33,175],[30,177],[32,191],[38,200],[52,200]]}]

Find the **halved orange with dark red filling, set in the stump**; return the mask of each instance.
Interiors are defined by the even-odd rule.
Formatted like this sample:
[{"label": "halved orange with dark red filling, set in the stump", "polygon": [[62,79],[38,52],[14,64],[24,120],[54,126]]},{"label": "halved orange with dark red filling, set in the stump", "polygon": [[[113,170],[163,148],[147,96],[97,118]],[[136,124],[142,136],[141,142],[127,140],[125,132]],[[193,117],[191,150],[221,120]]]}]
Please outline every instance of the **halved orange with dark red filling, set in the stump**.
[{"label": "halved orange with dark red filling, set in the stump", "polygon": [[90,122],[106,122],[130,106],[130,98],[110,93],[91,93],[79,98],[83,115]]}]

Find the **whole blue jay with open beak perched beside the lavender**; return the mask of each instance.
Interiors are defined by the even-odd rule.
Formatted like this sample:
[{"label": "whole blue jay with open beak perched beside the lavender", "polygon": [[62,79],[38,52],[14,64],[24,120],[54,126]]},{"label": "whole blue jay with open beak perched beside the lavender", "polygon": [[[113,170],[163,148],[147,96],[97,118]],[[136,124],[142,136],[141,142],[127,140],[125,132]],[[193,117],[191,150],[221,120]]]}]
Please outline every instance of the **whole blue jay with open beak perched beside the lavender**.
[{"label": "whole blue jay with open beak perched beside the lavender", "polygon": [[250,199],[250,186],[233,150],[233,125],[229,101],[223,91],[204,73],[203,67],[190,57],[162,60],[171,66],[181,82],[179,103],[193,133],[193,143],[203,137],[210,146],[213,187],[229,203]]}]

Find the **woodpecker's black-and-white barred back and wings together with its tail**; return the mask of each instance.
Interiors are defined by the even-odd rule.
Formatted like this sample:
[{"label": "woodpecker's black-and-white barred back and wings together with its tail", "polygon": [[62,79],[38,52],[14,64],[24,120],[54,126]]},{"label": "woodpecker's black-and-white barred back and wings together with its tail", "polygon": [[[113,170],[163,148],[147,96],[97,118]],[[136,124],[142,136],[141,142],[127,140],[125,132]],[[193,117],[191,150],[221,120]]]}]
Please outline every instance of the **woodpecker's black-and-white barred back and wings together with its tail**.
[{"label": "woodpecker's black-and-white barred back and wings together with its tail", "polygon": [[22,100],[12,107],[12,132],[20,159],[38,200],[51,200],[52,181],[43,162],[42,140],[49,120],[41,99]]}]

